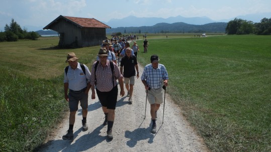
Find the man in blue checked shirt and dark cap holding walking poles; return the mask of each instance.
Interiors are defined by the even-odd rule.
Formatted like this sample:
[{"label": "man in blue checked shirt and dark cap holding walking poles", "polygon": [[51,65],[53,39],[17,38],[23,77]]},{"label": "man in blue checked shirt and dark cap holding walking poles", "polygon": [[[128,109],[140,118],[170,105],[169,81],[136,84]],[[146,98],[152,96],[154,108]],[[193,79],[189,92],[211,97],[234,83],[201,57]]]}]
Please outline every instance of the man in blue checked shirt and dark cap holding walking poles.
[{"label": "man in blue checked shirt and dark cap holding walking poles", "polygon": [[141,81],[145,86],[147,99],[150,103],[152,120],[151,132],[156,133],[156,113],[163,103],[163,88],[168,85],[168,73],[164,65],[159,64],[157,55],[150,57],[151,64],[145,66]]}]

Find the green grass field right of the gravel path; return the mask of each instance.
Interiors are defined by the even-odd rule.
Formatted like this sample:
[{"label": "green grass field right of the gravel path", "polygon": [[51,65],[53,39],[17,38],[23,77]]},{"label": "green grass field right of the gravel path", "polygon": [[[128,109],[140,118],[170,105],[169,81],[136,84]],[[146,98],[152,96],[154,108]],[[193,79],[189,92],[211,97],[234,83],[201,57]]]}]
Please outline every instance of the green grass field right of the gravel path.
[{"label": "green grass field right of the gravel path", "polygon": [[270,151],[270,42],[252,35],[149,40],[139,61],[159,56],[168,93],[212,151]]}]

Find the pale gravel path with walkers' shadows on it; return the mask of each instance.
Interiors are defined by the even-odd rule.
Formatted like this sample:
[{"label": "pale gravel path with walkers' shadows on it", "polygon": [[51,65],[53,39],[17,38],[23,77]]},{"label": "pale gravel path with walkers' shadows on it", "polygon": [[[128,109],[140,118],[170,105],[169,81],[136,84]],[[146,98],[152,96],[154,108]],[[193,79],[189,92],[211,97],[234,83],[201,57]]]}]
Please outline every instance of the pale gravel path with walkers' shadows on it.
[{"label": "pale gravel path with walkers' shadows on it", "polygon": [[[140,76],[143,68],[139,65]],[[170,85],[170,75],[168,84]],[[127,90],[125,89],[127,94]],[[126,95],[125,94],[125,95]],[[152,134],[150,105],[141,79],[136,79],[133,104],[128,104],[129,97],[119,95],[115,110],[113,140],[107,140],[107,126],[103,126],[104,113],[98,96],[91,99],[89,91],[89,106],[87,114],[88,130],[82,131],[81,109],[76,113],[74,124],[74,140],[62,140],[62,135],[68,130],[68,114],[63,122],[52,132],[49,141],[42,151],[209,151],[201,137],[190,126],[180,108],[166,94],[164,123],[162,124],[163,104],[157,111],[157,132]],[[80,106],[79,106],[80,107]]]}]

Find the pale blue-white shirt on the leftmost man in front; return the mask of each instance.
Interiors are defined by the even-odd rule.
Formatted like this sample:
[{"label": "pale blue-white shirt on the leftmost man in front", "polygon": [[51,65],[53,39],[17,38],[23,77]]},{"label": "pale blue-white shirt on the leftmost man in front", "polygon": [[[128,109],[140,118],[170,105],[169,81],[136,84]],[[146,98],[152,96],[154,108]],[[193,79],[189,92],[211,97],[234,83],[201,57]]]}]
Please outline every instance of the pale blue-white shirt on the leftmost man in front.
[{"label": "pale blue-white shirt on the leftmost man in front", "polygon": [[[77,62],[77,68],[74,70],[70,66],[68,72],[64,70],[64,83],[68,83],[68,88],[73,91],[79,91],[86,87],[87,81],[91,80],[91,72],[89,72],[87,66],[84,65],[85,75],[80,67],[80,63]],[[87,80],[87,81],[86,81]]]}]

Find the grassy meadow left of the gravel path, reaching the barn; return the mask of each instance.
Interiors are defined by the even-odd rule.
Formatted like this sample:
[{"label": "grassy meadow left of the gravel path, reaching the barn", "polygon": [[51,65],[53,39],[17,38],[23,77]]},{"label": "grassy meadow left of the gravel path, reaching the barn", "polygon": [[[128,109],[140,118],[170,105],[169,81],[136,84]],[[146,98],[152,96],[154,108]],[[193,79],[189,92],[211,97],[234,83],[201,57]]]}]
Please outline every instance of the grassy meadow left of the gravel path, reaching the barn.
[{"label": "grassy meadow left of the gravel path, reaching the barn", "polygon": [[0,151],[32,151],[67,114],[63,74],[68,52],[88,67],[99,47],[58,50],[58,40],[0,43]]}]

